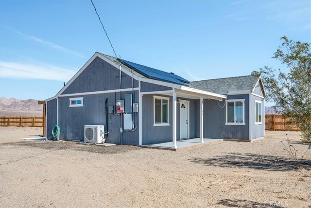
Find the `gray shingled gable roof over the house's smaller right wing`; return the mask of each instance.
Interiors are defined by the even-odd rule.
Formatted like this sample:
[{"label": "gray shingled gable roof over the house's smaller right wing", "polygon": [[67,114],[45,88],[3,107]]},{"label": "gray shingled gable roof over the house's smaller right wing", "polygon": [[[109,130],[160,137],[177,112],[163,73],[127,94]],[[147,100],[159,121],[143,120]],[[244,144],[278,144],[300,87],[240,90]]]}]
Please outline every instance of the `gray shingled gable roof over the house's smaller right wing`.
[{"label": "gray shingled gable roof over the house's smaller right wing", "polygon": [[261,77],[253,75],[193,81],[190,82],[190,87],[212,93],[227,94],[227,92],[232,91],[252,92],[258,82],[260,82],[260,86],[263,89]]}]

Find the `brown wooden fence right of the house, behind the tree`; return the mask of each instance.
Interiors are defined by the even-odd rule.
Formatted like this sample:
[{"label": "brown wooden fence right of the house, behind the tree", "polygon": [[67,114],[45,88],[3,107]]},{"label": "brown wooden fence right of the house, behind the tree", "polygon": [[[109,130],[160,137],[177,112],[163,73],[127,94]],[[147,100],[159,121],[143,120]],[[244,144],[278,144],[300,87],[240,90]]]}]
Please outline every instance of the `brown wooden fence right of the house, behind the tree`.
[{"label": "brown wooden fence right of the house, behind the tree", "polygon": [[300,131],[300,129],[289,123],[290,118],[283,114],[265,114],[265,130],[270,131]]}]

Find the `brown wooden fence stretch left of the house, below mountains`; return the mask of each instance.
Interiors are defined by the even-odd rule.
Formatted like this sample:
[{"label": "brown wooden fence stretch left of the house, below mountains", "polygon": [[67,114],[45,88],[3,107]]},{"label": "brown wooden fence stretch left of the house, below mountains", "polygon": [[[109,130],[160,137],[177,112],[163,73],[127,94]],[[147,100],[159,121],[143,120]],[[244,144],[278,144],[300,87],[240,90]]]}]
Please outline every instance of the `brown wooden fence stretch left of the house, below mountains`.
[{"label": "brown wooden fence stretch left of the house, below mountains", "polygon": [[0,126],[43,127],[43,116],[0,116]]}]

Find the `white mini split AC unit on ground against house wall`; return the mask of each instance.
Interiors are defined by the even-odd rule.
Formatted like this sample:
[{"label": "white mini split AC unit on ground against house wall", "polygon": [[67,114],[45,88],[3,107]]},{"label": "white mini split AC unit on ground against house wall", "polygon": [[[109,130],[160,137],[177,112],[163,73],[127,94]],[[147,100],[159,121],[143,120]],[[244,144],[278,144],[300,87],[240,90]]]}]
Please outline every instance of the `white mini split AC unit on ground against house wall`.
[{"label": "white mini split AC unit on ground against house wall", "polygon": [[102,143],[104,138],[103,125],[85,125],[84,126],[84,142]]}]

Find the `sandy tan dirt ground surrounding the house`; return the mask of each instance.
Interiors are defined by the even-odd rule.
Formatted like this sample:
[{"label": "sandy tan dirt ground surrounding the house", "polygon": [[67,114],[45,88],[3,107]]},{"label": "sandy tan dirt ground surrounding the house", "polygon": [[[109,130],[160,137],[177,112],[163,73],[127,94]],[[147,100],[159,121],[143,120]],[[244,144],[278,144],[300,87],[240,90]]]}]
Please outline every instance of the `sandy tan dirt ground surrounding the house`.
[{"label": "sandy tan dirt ground surrounding the house", "polygon": [[19,139],[40,134],[0,127],[1,208],[311,208],[311,151],[301,159],[299,132],[182,151]]}]

